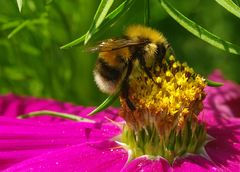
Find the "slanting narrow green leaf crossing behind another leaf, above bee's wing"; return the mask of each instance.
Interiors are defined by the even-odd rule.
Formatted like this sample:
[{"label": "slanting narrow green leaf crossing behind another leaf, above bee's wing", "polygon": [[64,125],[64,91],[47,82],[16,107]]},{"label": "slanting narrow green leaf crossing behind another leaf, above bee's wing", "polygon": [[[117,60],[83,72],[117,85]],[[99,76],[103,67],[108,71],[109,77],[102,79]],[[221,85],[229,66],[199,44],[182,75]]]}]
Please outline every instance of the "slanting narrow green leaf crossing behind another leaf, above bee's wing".
[{"label": "slanting narrow green leaf crossing behind another leaf, above bee's wing", "polygon": [[[95,34],[96,32],[98,32],[99,30],[101,30],[104,26],[106,26],[107,24],[110,24],[111,22],[114,21],[114,19],[116,19],[118,16],[122,15],[123,13],[127,12],[128,9],[132,6],[132,4],[134,3],[135,0],[125,0],[123,3],[121,3],[117,8],[115,8],[111,13],[109,13],[105,18],[104,21],[101,23],[101,25],[98,27],[98,29],[93,30],[93,34]],[[84,34],[83,36],[81,36],[78,39],[75,39],[74,41],[67,43],[63,46],[60,47],[60,49],[66,49],[66,48],[70,48],[73,47],[75,45],[80,44],[81,42],[83,42],[85,40],[86,34]]]}]

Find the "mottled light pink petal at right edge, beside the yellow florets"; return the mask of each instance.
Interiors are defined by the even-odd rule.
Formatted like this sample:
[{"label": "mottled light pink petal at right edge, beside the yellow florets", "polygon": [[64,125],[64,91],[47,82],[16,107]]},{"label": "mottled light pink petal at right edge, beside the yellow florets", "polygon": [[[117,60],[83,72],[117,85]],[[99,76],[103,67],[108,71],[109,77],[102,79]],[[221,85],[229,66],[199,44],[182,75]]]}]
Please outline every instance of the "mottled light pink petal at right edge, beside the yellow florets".
[{"label": "mottled light pink petal at right edge, beside the yellow florets", "polygon": [[224,83],[221,87],[207,87],[205,109],[212,110],[216,118],[240,117],[240,85],[225,80],[216,70],[209,79]]}]

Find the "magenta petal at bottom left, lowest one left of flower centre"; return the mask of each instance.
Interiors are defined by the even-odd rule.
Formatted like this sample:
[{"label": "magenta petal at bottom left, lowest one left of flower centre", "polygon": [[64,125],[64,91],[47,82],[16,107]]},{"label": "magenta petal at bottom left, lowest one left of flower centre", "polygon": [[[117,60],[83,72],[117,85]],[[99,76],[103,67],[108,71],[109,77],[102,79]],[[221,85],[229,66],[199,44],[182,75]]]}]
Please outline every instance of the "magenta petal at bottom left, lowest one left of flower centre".
[{"label": "magenta petal at bottom left, lowest one left of flower centre", "polygon": [[5,172],[120,171],[127,157],[127,152],[114,142],[86,143],[45,153],[16,164]]}]

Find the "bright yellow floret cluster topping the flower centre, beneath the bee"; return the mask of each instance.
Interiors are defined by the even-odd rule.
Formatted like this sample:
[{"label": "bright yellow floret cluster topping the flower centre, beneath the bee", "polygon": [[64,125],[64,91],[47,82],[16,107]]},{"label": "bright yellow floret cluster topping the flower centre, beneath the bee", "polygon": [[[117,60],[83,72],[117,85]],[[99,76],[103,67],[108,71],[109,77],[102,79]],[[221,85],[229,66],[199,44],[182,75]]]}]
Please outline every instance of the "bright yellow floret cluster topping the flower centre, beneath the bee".
[{"label": "bright yellow floret cluster topping the flower centre, beneath the bee", "polygon": [[[175,59],[170,56],[169,60],[172,62]],[[201,103],[205,95],[203,89],[206,84],[203,78],[194,74],[186,63],[174,62],[173,65],[166,65],[166,71],[163,68],[160,69],[153,79],[145,74],[138,75],[137,79],[130,81],[129,92],[131,100],[139,110],[147,110],[158,118],[165,117],[165,115],[177,116],[170,120],[178,124],[178,127],[182,127],[180,125],[182,122],[178,121],[183,121],[181,118],[187,118],[187,115],[181,114],[191,111],[194,103]],[[144,71],[142,72],[144,73]]]}]

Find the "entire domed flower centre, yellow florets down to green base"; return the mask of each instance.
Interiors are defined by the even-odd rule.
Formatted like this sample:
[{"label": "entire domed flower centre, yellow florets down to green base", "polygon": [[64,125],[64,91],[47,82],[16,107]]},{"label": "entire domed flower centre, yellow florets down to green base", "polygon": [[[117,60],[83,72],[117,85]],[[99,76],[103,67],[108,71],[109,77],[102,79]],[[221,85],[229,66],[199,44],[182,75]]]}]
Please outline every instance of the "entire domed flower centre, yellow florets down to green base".
[{"label": "entire domed flower centre, yellow florets down to green base", "polygon": [[131,145],[134,156],[160,155],[169,162],[185,153],[197,153],[206,137],[205,127],[197,120],[205,80],[172,55],[151,69],[152,78],[144,70],[139,72],[129,81],[129,98],[136,110],[120,98],[120,115],[127,123],[123,141]]}]

